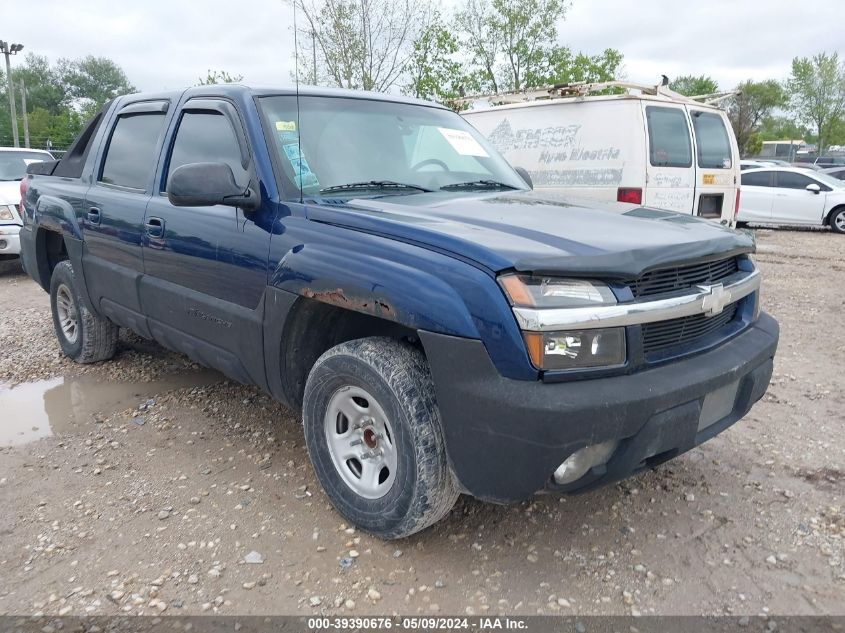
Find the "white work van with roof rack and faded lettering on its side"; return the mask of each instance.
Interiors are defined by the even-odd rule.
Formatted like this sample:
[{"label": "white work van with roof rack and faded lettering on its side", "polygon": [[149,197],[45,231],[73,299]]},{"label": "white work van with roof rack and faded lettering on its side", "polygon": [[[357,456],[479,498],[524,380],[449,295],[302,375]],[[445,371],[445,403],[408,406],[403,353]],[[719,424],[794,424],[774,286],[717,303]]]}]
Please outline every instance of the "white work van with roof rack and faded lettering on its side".
[{"label": "white work van with roof rack and faded lettering on its side", "polygon": [[[625,92],[588,96],[608,88]],[[528,171],[535,190],[735,223],[739,149],[725,112],[713,105],[662,85],[627,82],[466,101],[474,109],[463,116],[513,166]],[[481,102],[505,105],[479,108]]]}]

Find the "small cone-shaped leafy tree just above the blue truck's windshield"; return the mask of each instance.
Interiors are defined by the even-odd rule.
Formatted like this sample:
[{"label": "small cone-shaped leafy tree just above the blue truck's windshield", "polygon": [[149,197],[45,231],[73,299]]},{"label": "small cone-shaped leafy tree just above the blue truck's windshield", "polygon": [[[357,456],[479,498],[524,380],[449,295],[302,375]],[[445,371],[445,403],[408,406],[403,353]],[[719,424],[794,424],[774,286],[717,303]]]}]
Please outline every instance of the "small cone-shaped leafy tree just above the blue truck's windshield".
[{"label": "small cone-shaped leafy tree just above the blue truck's windshield", "polygon": [[414,40],[411,58],[405,68],[408,83],[405,94],[461,109],[457,99],[477,90],[476,77],[458,61],[459,42],[443,23],[438,10]]}]

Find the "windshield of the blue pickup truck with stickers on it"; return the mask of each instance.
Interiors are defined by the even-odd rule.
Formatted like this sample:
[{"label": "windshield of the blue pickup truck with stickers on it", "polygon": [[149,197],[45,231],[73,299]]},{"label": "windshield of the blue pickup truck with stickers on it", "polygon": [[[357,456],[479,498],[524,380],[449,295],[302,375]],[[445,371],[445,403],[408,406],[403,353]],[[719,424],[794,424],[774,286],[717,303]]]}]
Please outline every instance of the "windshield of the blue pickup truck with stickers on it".
[{"label": "windshield of the blue pickup truck with stickers on it", "polygon": [[[284,189],[305,196],[411,195],[525,189],[504,158],[460,116],[426,106],[335,97],[260,100]],[[301,146],[300,146],[301,142]]]}]

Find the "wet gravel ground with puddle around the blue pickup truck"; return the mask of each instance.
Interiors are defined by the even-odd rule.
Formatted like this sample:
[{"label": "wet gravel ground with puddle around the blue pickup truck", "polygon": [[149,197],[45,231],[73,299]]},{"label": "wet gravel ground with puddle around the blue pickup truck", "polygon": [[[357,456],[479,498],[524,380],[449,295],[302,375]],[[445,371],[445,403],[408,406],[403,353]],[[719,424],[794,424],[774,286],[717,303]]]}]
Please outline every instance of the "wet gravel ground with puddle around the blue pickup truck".
[{"label": "wet gravel ground with puddle around the blue pickup truck", "polygon": [[462,497],[392,543],[333,512],[282,406],[125,334],[75,365],[7,271],[0,614],[845,614],[845,238],[757,237],[781,346],[742,422],[587,495]]}]

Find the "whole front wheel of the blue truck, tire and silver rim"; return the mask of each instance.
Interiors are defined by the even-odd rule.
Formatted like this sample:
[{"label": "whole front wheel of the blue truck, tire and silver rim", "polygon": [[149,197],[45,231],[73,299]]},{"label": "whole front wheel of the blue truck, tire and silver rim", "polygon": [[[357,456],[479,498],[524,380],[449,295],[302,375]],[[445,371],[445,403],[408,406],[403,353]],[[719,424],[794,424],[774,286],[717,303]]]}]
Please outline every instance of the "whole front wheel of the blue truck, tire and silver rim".
[{"label": "whole front wheel of the blue truck, tire and silver rim", "polygon": [[418,532],[458,498],[423,354],[389,338],[323,354],[303,400],[308,454],[337,511],[385,539]]}]

